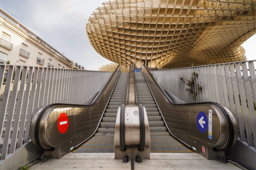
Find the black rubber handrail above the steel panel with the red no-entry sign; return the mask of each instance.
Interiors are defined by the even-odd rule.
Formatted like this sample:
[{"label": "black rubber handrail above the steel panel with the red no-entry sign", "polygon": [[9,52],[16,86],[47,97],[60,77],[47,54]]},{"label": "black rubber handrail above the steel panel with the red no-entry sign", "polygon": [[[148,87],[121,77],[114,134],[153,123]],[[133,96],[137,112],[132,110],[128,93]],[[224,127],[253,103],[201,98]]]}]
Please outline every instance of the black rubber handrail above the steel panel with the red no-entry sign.
[{"label": "black rubber handrail above the steel panel with the red no-entry sign", "polygon": [[[110,83],[110,81],[112,80],[112,78],[114,77],[115,73],[117,72],[118,68],[120,68],[120,64],[116,67],[116,69],[114,70],[114,72],[111,74],[108,82],[106,83],[106,85],[104,86],[104,88],[101,90],[101,92],[99,93],[99,95],[96,97],[96,100],[94,100],[93,103],[91,103],[90,105],[79,105],[79,104],[63,104],[63,103],[53,103],[53,104],[49,104],[47,106],[45,106],[44,108],[42,108],[42,110],[40,111],[40,113],[38,115],[38,118],[36,120],[35,123],[35,128],[34,128],[34,139],[35,139],[35,143],[37,146],[39,146],[40,148],[42,148],[43,150],[47,150],[45,149],[45,147],[43,147],[41,145],[40,142],[40,137],[39,137],[39,133],[40,133],[40,125],[42,122],[42,119],[44,118],[47,110],[53,106],[65,106],[65,107],[83,107],[83,108],[89,108],[89,107],[93,107],[94,105],[96,105],[100,99],[100,97],[102,96],[102,94],[104,93],[104,91],[106,90],[108,84]],[[120,74],[120,73],[119,73]],[[52,149],[48,149],[48,150],[52,150]]]}]

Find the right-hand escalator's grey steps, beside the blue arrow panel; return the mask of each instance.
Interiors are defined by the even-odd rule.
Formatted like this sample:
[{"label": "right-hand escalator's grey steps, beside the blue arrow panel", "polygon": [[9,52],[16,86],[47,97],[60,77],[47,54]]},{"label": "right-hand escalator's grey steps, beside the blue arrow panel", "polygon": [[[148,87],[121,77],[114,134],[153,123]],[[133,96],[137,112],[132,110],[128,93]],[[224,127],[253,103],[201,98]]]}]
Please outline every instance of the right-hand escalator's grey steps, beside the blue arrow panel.
[{"label": "right-hand escalator's grey steps, beside the blue arrow panel", "polygon": [[150,152],[193,152],[168,132],[143,73],[135,73],[135,80],[138,102],[142,103],[147,111],[151,138]]}]

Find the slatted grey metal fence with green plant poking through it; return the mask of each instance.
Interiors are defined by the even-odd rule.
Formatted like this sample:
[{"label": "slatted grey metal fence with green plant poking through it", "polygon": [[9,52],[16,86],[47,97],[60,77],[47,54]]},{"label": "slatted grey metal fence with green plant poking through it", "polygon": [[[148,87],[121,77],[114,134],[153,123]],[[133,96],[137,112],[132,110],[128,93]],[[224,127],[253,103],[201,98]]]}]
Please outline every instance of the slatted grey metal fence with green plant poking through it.
[{"label": "slatted grey metal fence with green plant poking through it", "polygon": [[255,150],[256,60],[151,71],[171,98],[182,103],[217,102],[239,125],[239,140]]}]

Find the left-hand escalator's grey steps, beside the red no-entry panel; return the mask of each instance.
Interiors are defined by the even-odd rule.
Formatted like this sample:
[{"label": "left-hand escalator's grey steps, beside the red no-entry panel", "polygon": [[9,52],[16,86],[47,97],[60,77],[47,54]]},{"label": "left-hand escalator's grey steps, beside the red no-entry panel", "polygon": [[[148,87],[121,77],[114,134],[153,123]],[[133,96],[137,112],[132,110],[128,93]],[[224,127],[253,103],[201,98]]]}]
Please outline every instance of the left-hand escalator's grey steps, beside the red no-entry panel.
[{"label": "left-hand escalator's grey steps, beside the red no-entry panel", "polygon": [[121,73],[110,97],[97,133],[73,152],[113,153],[114,132],[118,107],[126,101],[128,73]]}]

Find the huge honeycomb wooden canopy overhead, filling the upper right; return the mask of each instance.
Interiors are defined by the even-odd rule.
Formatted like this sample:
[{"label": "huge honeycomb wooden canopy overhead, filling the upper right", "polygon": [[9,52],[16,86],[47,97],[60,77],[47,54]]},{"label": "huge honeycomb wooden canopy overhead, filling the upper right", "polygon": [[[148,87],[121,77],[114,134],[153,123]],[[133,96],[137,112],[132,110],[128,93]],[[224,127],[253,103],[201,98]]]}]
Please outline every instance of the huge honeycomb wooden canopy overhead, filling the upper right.
[{"label": "huge honeycomb wooden canopy overhead, filling the upper right", "polygon": [[86,30],[100,55],[127,67],[243,61],[255,9],[256,0],[113,0],[96,9]]}]

